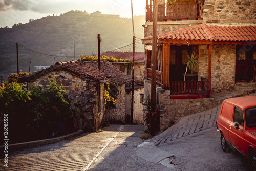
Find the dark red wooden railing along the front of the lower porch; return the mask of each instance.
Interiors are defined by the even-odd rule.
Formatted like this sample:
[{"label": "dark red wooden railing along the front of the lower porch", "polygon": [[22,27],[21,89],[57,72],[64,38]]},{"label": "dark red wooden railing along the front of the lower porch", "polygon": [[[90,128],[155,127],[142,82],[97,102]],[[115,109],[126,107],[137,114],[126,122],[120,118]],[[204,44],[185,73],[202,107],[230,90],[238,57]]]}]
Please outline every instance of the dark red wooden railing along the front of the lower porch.
[{"label": "dark red wooden railing along the front of the lower porch", "polygon": [[170,94],[208,94],[208,81],[170,81]]}]

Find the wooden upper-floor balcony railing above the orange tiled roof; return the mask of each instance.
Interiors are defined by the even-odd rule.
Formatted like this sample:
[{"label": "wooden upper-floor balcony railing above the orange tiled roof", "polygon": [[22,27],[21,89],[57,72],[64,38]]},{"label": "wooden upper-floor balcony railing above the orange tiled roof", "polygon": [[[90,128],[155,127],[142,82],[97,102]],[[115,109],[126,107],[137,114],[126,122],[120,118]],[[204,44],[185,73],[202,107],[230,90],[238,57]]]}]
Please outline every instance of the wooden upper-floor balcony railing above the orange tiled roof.
[{"label": "wooden upper-floor balcony railing above the orange tiled roof", "polygon": [[[158,21],[201,19],[202,4],[158,5]],[[153,22],[153,5],[146,5],[146,22]]]}]

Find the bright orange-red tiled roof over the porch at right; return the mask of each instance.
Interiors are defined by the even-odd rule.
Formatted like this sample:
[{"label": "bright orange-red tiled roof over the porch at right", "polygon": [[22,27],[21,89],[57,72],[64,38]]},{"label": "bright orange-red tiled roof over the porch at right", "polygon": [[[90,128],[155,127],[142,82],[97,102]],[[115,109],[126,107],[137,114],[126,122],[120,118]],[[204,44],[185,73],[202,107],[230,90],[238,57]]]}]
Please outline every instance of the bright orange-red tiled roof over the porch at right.
[{"label": "bright orange-red tiled roof over the porch at right", "polygon": [[[256,41],[256,26],[196,25],[160,34],[158,40]],[[152,37],[142,40],[152,40]]]}]

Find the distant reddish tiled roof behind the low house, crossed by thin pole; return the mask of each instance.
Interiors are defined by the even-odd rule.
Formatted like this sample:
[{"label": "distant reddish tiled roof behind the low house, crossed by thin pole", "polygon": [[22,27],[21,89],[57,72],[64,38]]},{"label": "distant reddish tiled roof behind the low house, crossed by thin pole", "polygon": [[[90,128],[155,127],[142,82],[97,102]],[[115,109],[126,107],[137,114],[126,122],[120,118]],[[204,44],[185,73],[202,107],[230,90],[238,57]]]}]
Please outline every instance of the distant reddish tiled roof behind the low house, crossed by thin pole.
[{"label": "distant reddish tiled roof behind the low house, crossed by thin pole", "polygon": [[[134,61],[139,63],[144,63],[144,52],[135,52],[134,55]],[[116,59],[130,59],[133,61],[133,52],[115,52],[115,51],[108,51],[100,55],[102,57],[103,55],[106,55],[108,57],[114,57]]]}]

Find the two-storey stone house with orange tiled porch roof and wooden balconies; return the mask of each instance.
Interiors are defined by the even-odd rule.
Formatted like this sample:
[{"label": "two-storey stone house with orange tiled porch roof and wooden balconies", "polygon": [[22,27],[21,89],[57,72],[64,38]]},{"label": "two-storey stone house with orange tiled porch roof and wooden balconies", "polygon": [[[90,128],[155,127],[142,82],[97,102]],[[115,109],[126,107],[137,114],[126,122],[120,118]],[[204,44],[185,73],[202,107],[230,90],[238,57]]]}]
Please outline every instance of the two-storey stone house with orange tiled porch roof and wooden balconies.
[{"label": "two-storey stone house with orange tiled porch roof and wooden balconies", "polygon": [[[146,1],[145,96],[150,95],[153,1]],[[256,81],[256,2],[158,4],[157,98],[163,131],[184,115],[212,108],[211,94]],[[190,9],[190,10],[189,10]],[[172,21],[170,21],[172,20]],[[187,53],[198,55],[188,71]]]}]

